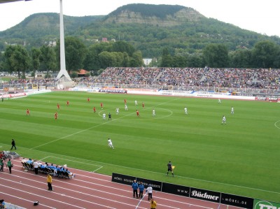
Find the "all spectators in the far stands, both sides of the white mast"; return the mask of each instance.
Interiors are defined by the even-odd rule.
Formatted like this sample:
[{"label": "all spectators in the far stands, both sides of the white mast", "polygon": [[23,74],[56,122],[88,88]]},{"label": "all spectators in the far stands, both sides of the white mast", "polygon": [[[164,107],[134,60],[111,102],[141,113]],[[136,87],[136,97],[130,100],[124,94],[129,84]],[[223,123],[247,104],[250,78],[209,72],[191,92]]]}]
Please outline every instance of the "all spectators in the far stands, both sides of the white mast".
[{"label": "all spectators in the far stands, both sides of the white mast", "polygon": [[[54,86],[57,80],[10,80],[8,87],[17,85]],[[111,67],[100,75],[75,80],[80,86],[118,86],[126,88],[215,90],[244,92],[250,89],[258,93],[280,94],[280,69],[233,69],[233,68],[131,68]],[[3,89],[3,84],[0,89]],[[256,91],[258,90],[258,91]]]}]

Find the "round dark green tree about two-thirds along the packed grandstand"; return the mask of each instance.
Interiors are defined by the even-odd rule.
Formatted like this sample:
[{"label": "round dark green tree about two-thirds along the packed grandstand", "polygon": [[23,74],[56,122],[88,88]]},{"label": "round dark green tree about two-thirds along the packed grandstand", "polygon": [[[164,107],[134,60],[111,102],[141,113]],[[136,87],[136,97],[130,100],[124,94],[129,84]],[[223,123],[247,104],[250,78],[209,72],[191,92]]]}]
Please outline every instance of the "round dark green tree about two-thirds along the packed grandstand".
[{"label": "round dark green tree about two-thirds along the packed grandstand", "polygon": [[211,43],[203,50],[206,65],[212,68],[228,66],[228,48],[224,44]]}]

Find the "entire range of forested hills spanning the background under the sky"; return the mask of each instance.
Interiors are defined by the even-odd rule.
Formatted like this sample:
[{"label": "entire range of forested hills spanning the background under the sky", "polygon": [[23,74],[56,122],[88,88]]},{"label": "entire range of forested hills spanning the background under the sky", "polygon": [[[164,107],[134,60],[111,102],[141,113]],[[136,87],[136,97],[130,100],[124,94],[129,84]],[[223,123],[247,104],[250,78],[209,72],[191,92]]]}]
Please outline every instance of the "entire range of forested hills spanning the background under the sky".
[{"label": "entire range of forested hills spanning the background under the sky", "polygon": [[[163,48],[168,48],[172,55],[192,54],[201,52],[209,43],[223,43],[230,51],[252,49],[259,41],[280,44],[278,36],[240,29],[204,17],[193,8],[143,3],[122,6],[105,16],[64,16],[64,34],[76,36],[86,45],[102,38],[127,41],[141,50],[144,57],[160,57]],[[59,38],[59,15],[34,14],[15,27],[0,32],[0,50],[5,43],[41,47],[54,38]]]}]

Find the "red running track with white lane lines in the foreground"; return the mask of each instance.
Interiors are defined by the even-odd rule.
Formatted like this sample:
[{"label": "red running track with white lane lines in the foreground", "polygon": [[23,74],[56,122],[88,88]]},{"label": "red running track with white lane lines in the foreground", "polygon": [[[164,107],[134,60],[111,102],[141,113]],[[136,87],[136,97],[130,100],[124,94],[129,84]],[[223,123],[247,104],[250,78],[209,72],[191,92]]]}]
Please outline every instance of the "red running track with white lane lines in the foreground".
[{"label": "red running track with white lane lines in the foreground", "polygon": [[[21,159],[13,159],[12,174],[4,168],[0,172],[0,199],[22,208],[150,208],[148,196],[134,199],[132,188],[111,182],[111,176],[81,171],[75,168],[69,170],[76,174],[75,178],[62,179],[52,177],[53,191],[48,191],[47,176],[43,173],[35,175],[34,171],[25,172]],[[163,192],[153,191],[153,198],[160,209],[237,209],[208,201],[190,199]]]}]

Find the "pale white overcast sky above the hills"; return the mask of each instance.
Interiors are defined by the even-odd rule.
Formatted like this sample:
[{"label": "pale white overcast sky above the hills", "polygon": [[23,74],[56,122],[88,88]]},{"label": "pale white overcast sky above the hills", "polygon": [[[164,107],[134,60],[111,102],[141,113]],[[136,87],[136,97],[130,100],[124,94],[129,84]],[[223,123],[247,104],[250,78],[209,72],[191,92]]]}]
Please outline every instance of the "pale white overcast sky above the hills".
[{"label": "pale white overcast sky above the hills", "polygon": [[[235,24],[268,36],[280,37],[279,0],[63,0],[64,15],[108,15],[129,3],[169,4],[191,7],[206,17]],[[0,31],[34,13],[59,13],[59,0],[31,0],[0,4]]]}]

